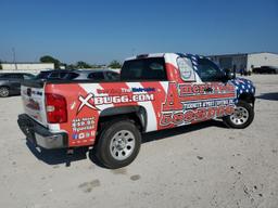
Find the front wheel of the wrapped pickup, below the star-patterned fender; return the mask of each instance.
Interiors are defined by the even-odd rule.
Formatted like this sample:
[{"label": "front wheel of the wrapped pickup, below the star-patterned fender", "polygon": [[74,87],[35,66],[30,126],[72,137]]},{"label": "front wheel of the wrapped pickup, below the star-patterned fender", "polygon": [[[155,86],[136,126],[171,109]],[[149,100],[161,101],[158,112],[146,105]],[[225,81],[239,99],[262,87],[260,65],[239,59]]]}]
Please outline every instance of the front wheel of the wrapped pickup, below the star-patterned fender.
[{"label": "front wheel of the wrapped pickup, below the star-patterned fender", "polygon": [[223,118],[224,123],[233,129],[244,129],[254,120],[254,108],[245,101],[239,101],[233,114]]}]

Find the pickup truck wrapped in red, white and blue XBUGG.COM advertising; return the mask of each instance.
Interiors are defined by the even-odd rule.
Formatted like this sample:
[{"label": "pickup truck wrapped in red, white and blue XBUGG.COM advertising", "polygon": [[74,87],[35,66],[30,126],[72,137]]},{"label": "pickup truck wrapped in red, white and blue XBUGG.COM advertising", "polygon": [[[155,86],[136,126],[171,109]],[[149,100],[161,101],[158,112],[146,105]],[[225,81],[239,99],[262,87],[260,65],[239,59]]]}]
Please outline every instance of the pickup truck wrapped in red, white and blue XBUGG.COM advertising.
[{"label": "pickup truck wrapped in red, white and blue XBUGG.COM advertising", "polygon": [[124,62],[118,81],[29,80],[18,126],[42,148],[93,146],[108,168],[129,165],[141,134],[210,119],[236,129],[254,118],[252,81],[204,56],[142,54]]}]

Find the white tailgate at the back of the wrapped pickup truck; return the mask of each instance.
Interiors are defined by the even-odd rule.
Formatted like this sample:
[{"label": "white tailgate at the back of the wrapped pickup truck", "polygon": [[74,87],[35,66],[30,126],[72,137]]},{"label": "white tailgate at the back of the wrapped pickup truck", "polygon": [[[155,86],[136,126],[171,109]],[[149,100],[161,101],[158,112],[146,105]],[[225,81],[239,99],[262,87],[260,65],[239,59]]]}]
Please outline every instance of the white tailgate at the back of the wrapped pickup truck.
[{"label": "white tailgate at the back of the wrapped pickup truck", "polygon": [[28,80],[22,84],[21,91],[25,114],[47,127],[43,89],[41,80]]}]

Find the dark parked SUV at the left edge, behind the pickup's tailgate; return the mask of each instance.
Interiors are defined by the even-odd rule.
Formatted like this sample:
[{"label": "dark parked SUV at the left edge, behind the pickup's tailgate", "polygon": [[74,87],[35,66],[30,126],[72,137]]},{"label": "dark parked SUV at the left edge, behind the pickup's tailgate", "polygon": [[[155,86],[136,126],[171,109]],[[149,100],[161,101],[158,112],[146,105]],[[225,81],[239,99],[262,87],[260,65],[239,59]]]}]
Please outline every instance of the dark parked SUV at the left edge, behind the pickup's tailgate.
[{"label": "dark parked SUV at the left edge, behind the pickup's tailgate", "polygon": [[33,78],[28,73],[0,73],[0,98],[21,94],[22,82]]}]

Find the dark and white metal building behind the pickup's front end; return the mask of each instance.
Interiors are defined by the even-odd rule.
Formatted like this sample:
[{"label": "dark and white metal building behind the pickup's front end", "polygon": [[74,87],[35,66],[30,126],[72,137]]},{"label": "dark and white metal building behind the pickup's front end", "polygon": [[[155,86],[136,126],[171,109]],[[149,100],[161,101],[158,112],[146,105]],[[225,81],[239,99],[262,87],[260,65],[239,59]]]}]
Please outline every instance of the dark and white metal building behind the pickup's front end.
[{"label": "dark and white metal building behind the pickup's front end", "polygon": [[261,66],[278,67],[277,53],[238,53],[208,55],[208,57],[218,64],[222,68],[236,69],[237,73],[239,73],[241,69],[252,72],[252,68]]}]

